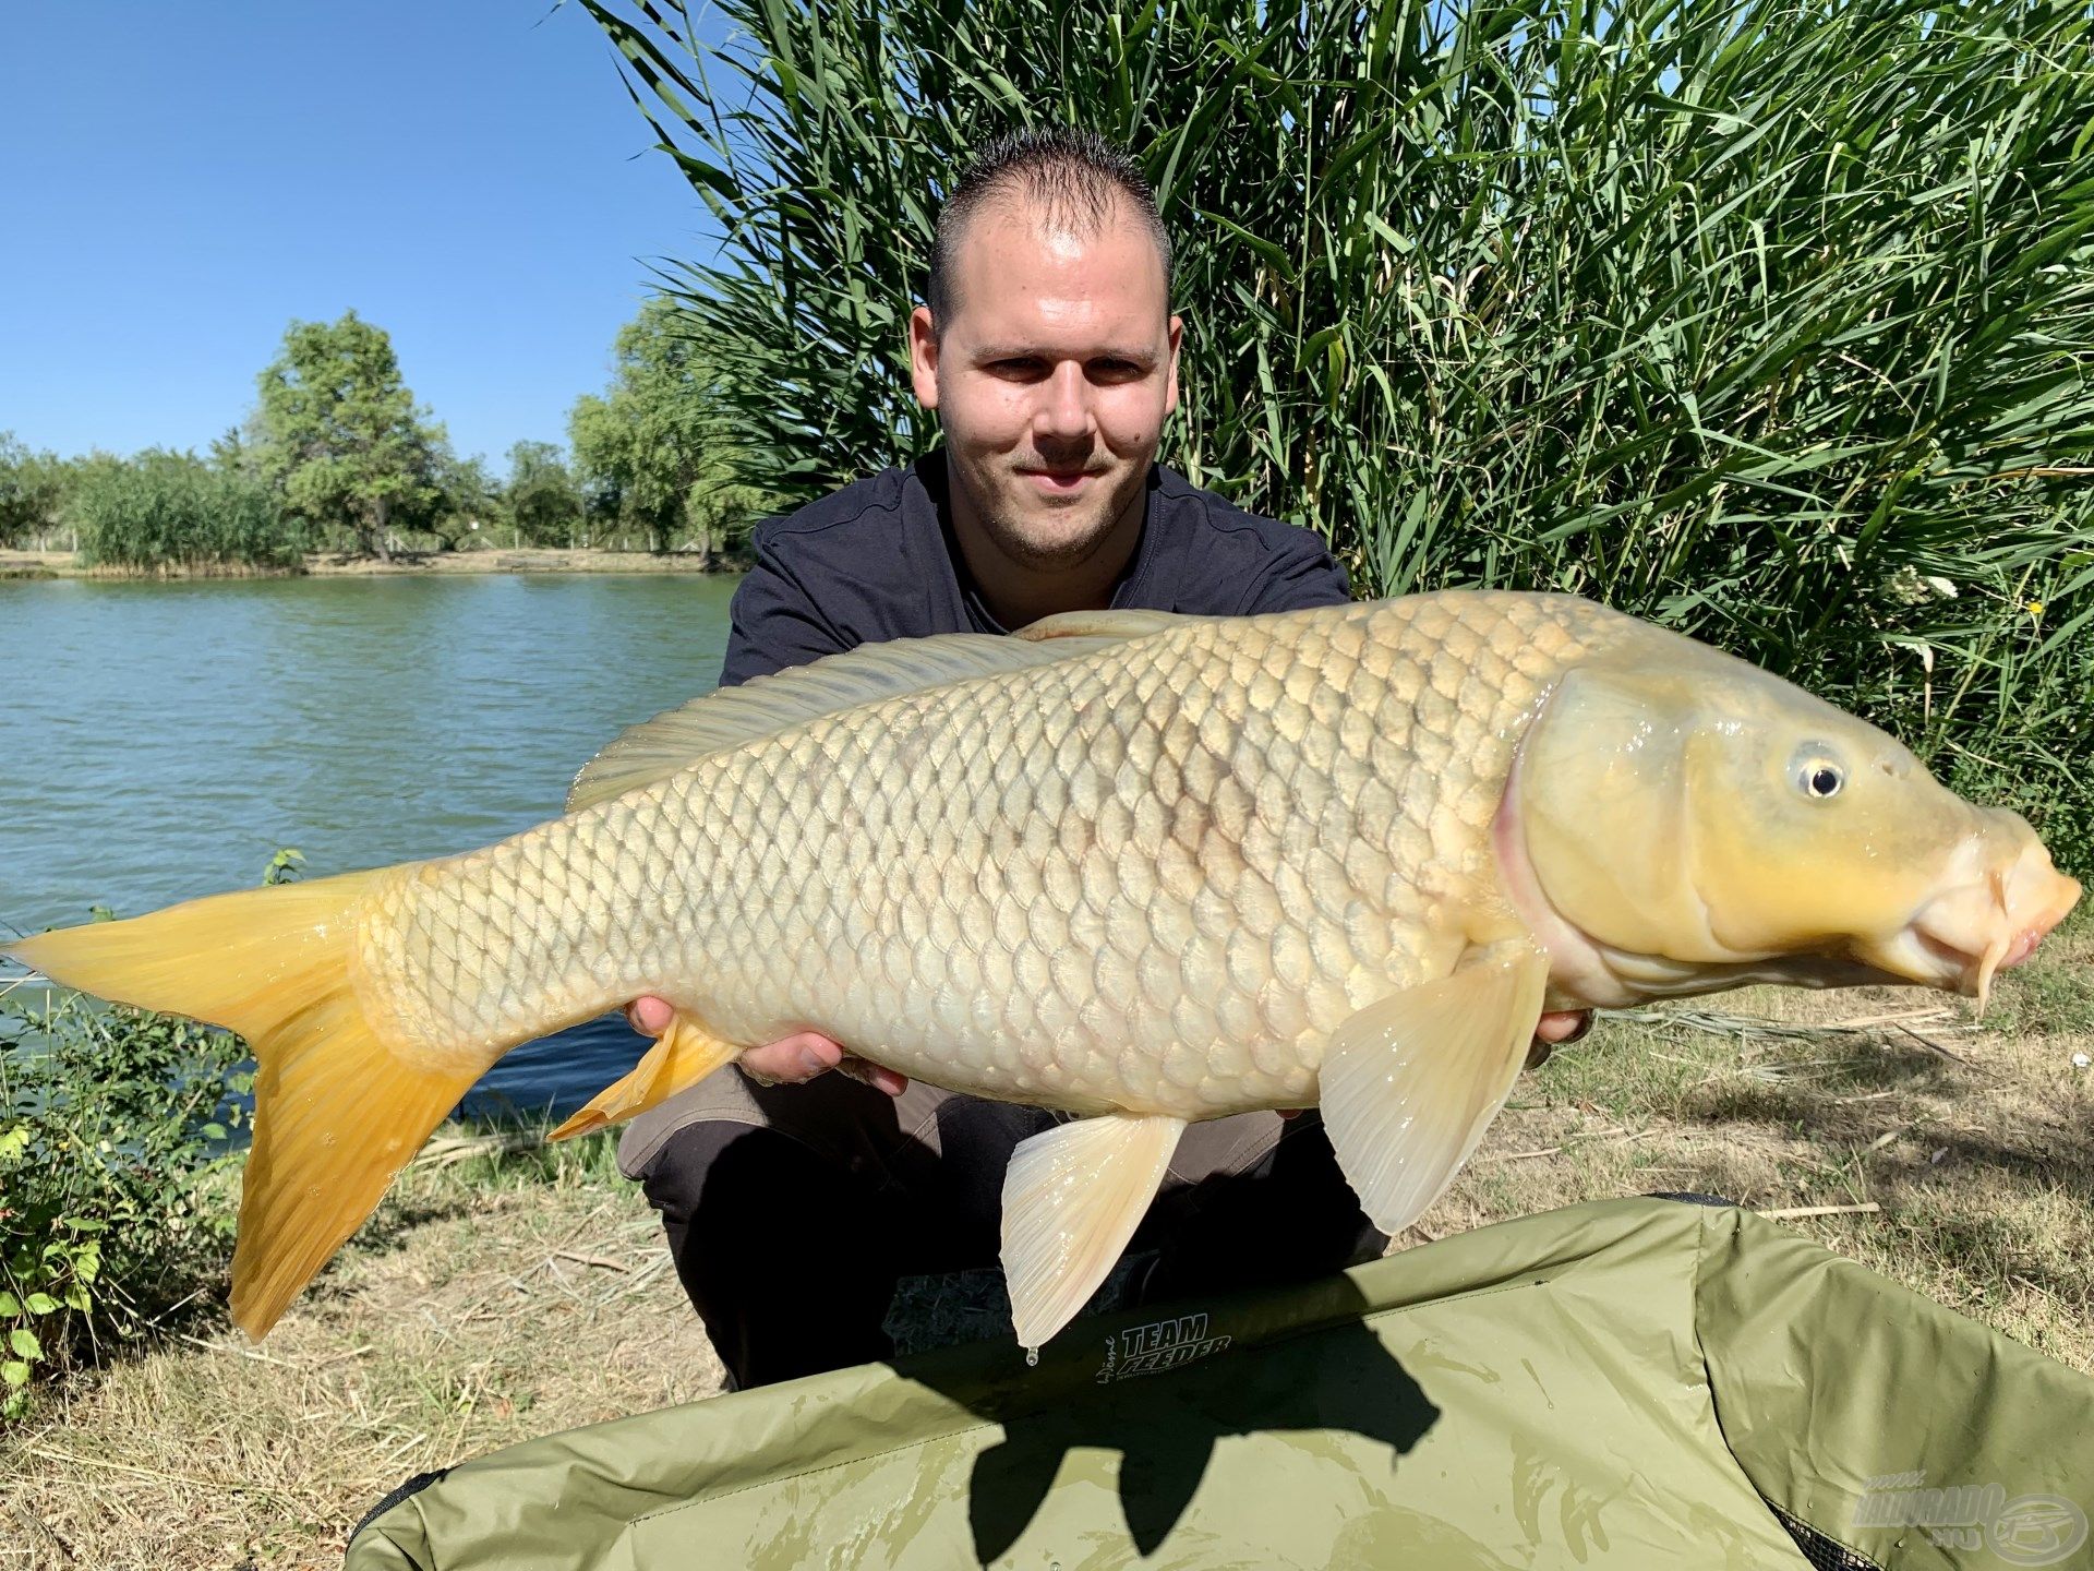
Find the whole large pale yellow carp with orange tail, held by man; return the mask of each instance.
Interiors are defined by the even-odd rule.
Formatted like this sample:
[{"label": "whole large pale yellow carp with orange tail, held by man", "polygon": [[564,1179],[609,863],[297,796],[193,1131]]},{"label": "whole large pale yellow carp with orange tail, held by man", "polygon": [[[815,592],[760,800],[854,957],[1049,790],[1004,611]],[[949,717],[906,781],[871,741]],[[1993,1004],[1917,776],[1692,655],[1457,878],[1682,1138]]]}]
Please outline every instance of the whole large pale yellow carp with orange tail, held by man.
[{"label": "whole large pale yellow carp with orange tail, held by man", "polygon": [[563,1133],[796,1031],[1081,1114],[1003,1192],[1037,1347],[1187,1121],[1321,1106],[1395,1234],[1545,1008],[1983,997],[2077,894],[2023,819],[1746,662],[1451,591],[867,645],[634,727],[500,844],[6,953],[251,1043],[232,1313],[255,1336],[490,1064],[653,993],[672,1026]]}]

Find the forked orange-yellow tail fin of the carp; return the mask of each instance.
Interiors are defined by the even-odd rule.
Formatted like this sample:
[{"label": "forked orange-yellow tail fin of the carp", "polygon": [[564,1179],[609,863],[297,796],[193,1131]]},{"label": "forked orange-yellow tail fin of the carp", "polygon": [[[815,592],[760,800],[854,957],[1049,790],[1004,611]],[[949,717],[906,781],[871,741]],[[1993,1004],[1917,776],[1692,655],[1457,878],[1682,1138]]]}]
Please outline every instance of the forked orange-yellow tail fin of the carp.
[{"label": "forked orange-yellow tail fin of the carp", "polygon": [[260,1338],[377,1207],[477,1079],[477,1058],[394,1052],[350,972],[373,886],[396,869],[276,884],[0,949],[54,982],[226,1026],[255,1054],[232,1320]]}]

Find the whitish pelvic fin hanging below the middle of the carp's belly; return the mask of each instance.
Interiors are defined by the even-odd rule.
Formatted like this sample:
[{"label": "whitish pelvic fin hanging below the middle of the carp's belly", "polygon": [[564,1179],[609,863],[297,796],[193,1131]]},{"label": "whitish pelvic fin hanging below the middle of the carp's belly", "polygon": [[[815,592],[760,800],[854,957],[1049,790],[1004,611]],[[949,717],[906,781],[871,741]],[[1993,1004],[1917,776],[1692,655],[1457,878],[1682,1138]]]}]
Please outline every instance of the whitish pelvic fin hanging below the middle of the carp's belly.
[{"label": "whitish pelvic fin hanging below the middle of the carp's belly", "polygon": [[1112,1112],[1022,1142],[1003,1175],[1003,1280],[1024,1347],[1097,1292],[1156,1198],[1183,1119]]}]

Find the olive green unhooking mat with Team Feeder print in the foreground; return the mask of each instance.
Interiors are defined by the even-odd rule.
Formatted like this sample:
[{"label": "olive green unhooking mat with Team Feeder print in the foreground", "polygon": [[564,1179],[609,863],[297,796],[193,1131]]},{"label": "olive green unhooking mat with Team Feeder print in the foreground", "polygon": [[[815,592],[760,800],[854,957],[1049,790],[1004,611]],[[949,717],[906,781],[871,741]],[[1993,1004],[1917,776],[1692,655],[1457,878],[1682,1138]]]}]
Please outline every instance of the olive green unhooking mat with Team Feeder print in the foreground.
[{"label": "olive green unhooking mat with Team Feeder print in the foreground", "polygon": [[348,1565],[2086,1567],[2090,1510],[2094,1380],[1646,1198],[530,1441]]}]

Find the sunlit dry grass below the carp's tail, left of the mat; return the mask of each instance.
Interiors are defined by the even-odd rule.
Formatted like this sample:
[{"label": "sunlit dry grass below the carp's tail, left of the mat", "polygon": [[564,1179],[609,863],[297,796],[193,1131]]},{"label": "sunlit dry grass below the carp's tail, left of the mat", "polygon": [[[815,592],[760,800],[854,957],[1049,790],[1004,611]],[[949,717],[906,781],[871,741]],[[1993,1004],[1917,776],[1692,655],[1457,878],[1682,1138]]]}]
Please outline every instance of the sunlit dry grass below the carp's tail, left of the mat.
[{"label": "sunlit dry grass below the carp's tail, left of the mat", "polygon": [[337,1567],[410,1473],[718,1389],[601,1139],[427,1163],[260,1347],[180,1336],[0,1433],[0,1567]]}]

